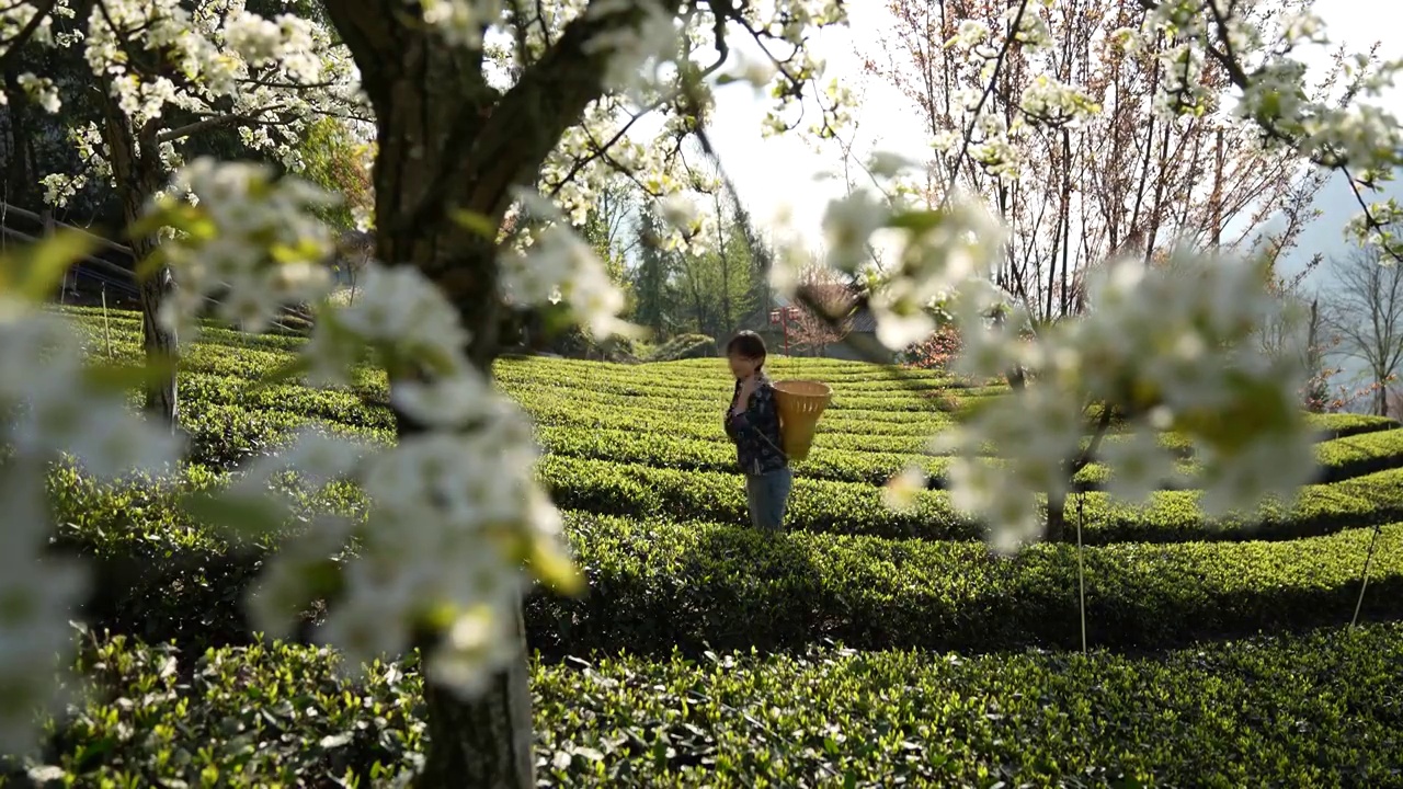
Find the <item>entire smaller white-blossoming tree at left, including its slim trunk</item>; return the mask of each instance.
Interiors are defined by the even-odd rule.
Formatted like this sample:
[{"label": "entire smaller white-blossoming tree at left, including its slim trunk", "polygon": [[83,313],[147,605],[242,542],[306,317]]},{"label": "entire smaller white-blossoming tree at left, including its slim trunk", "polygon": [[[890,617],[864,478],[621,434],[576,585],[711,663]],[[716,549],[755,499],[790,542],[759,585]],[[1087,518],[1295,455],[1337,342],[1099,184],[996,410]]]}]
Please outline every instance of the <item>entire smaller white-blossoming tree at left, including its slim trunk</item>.
[{"label": "entire smaller white-blossoming tree at left, including its slim trunk", "polygon": [[[72,15],[53,17],[43,38],[13,49],[48,44],[65,63],[86,59],[86,69],[60,73],[66,81],[38,77],[27,90],[52,111],[81,97],[65,115],[81,166],[45,174],[45,199],[63,205],[94,181],[115,188],[132,254],[153,264],[139,282],[142,333],[147,359],[166,373],[147,385],[146,409],[168,424],[178,413],[178,327],[161,310],[175,282],[156,257],[154,229],[137,230],[137,219],[185,157],[227,147],[227,135],[215,132],[236,132],[240,149],[275,154],[296,170],[299,138],[317,118],[369,121],[349,53],[316,21],[318,8],[274,22],[250,10],[231,14],[219,0],[81,0]],[[335,147],[318,142],[317,153]],[[224,317],[237,319],[240,309],[227,305]]]}]

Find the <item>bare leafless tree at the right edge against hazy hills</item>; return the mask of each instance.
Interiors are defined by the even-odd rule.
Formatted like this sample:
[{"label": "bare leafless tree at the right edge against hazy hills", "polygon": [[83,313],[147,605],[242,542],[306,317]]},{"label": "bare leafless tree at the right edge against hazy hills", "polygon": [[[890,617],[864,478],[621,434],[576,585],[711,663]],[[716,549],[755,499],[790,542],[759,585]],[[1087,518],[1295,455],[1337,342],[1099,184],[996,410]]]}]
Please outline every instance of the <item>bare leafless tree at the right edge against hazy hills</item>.
[{"label": "bare leafless tree at the right edge against hazy hills", "polygon": [[1388,386],[1403,365],[1403,267],[1365,243],[1331,257],[1329,270],[1320,300],[1324,326],[1340,338],[1331,355],[1364,365],[1371,411],[1386,417]]}]

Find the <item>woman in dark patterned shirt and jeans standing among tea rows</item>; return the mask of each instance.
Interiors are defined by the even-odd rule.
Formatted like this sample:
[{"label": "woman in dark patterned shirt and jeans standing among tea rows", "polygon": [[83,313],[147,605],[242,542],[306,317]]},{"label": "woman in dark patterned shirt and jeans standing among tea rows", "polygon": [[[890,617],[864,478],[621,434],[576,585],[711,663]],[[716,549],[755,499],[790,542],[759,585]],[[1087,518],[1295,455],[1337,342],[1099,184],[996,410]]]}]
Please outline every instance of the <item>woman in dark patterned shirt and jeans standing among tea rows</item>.
[{"label": "woman in dark patterned shirt and jeans standing among tea rows", "polygon": [[780,448],[780,413],[774,386],[765,375],[765,340],[753,331],[742,331],[725,345],[725,358],[735,376],[735,396],[725,411],[725,434],[735,442],[745,473],[751,522],[760,529],[779,531],[784,528],[794,479]]}]

